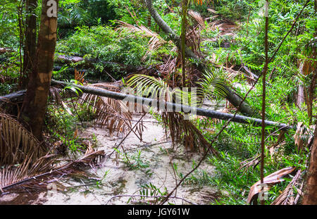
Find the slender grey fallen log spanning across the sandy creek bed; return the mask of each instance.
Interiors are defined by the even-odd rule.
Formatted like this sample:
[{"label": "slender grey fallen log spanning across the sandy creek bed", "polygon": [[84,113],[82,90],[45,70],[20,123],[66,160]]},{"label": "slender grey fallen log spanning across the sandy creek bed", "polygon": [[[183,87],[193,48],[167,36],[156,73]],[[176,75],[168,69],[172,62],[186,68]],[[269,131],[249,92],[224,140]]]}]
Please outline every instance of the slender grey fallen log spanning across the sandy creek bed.
[{"label": "slender grey fallen log spanning across the sandy creek bed", "polygon": [[[51,85],[61,85],[63,87],[66,87],[70,84],[67,82],[51,80]],[[261,126],[261,123],[262,123],[261,119],[251,118],[251,117],[247,117],[247,116],[243,116],[243,115],[235,115],[235,117],[234,117],[234,115],[232,115],[230,113],[220,113],[218,111],[211,111],[211,110],[207,110],[205,108],[196,108],[196,107],[186,106],[186,105],[182,105],[182,104],[174,104],[174,103],[170,103],[170,102],[166,102],[166,101],[158,101],[156,99],[149,99],[149,98],[144,98],[141,96],[133,96],[133,95],[129,95],[129,94],[110,92],[110,91],[106,91],[104,89],[96,89],[96,88],[85,87],[85,86],[81,86],[81,85],[73,85],[72,84],[72,86],[81,89],[82,92],[87,93],[87,94],[106,96],[108,98],[118,99],[118,100],[122,100],[122,101],[130,101],[133,103],[140,103],[140,104],[144,104],[146,106],[154,106],[154,107],[155,106],[161,106],[161,107],[163,106],[166,108],[173,109],[173,111],[176,111],[176,109],[178,109],[179,111],[184,112],[184,113],[194,112],[197,115],[202,115],[202,116],[209,117],[209,118],[217,118],[220,120],[230,120],[232,118],[232,122],[244,123],[244,124],[255,125],[255,126]],[[280,128],[281,130],[289,130],[289,129],[294,128],[291,125],[286,125],[284,123],[276,123],[276,122],[269,121],[269,120],[266,120],[265,123],[266,123],[266,126],[275,126],[275,127]]]}]

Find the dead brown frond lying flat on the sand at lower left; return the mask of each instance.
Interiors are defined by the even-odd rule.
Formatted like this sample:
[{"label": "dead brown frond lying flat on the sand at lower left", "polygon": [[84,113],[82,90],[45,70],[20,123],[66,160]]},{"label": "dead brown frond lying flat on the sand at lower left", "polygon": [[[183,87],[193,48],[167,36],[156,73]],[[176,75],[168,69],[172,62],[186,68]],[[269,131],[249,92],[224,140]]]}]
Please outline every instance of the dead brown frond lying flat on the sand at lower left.
[{"label": "dead brown frond lying flat on the sand at lower left", "polygon": [[63,165],[54,165],[56,160],[53,155],[43,156],[35,163],[25,158],[18,166],[8,166],[0,170],[0,194],[1,192],[15,192],[20,189],[47,189],[52,182],[54,184],[64,176],[88,175],[82,170],[83,166],[95,165],[104,158],[104,151],[87,149],[85,156]]}]

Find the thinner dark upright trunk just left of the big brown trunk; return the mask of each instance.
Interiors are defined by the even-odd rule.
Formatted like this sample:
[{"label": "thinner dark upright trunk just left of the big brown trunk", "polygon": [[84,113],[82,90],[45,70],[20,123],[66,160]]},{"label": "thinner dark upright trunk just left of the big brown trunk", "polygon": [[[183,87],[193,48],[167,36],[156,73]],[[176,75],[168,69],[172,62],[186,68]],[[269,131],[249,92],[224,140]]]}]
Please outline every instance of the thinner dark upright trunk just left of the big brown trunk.
[{"label": "thinner dark upright trunk just left of the big brown trunk", "polygon": [[27,86],[28,75],[35,67],[36,48],[37,48],[37,0],[26,0],[26,26],[25,26],[25,47],[23,55],[23,78],[22,88]]}]

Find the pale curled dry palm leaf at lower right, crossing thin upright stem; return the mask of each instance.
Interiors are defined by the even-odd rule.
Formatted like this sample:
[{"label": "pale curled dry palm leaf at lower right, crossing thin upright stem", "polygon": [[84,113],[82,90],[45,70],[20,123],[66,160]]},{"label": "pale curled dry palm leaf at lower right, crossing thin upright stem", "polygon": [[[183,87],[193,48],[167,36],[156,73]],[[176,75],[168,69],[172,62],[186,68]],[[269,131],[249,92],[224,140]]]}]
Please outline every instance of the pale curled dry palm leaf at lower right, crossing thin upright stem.
[{"label": "pale curled dry palm leaf at lower right, crossing thin upright stem", "polygon": [[253,184],[250,188],[247,204],[251,204],[251,202],[259,196],[261,189],[263,189],[263,192],[268,191],[269,187],[271,187],[273,184],[284,181],[283,177],[292,173],[294,170],[295,167],[283,168],[282,170],[278,170],[264,177],[263,184],[265,184],[265,186],[261,185],[261,180]]}]

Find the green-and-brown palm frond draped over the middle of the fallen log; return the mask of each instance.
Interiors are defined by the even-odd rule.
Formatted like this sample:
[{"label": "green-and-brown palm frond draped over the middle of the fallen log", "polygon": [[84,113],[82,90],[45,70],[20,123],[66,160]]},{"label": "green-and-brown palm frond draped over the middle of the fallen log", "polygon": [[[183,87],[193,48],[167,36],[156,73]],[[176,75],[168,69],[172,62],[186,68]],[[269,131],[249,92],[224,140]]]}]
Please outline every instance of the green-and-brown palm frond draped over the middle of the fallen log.
[{"label": "green-and-brown palm frond draped over the middle of the fallen log", "polygon": [[[178,104],[189,106],[197,106],[201,102],[195,92],[191,92],[189,89],[170,89],[164,80],[149,75],[133,75],[128,80],[127,85],[132,87],[137,94],[143,94],[143,96],[147,96],[149,91],[152,94],[164,92],[165,101],[175,101]],[[216,150],[210,146],[200,130],[197,129],[192,121],[186,120],[183,113],[165,110],[161,112],[161,118],[166,129],[169,129],[173,145],[180,143],[188,150],[207,149],[210,147],[213,154],[216,154]]]}]

